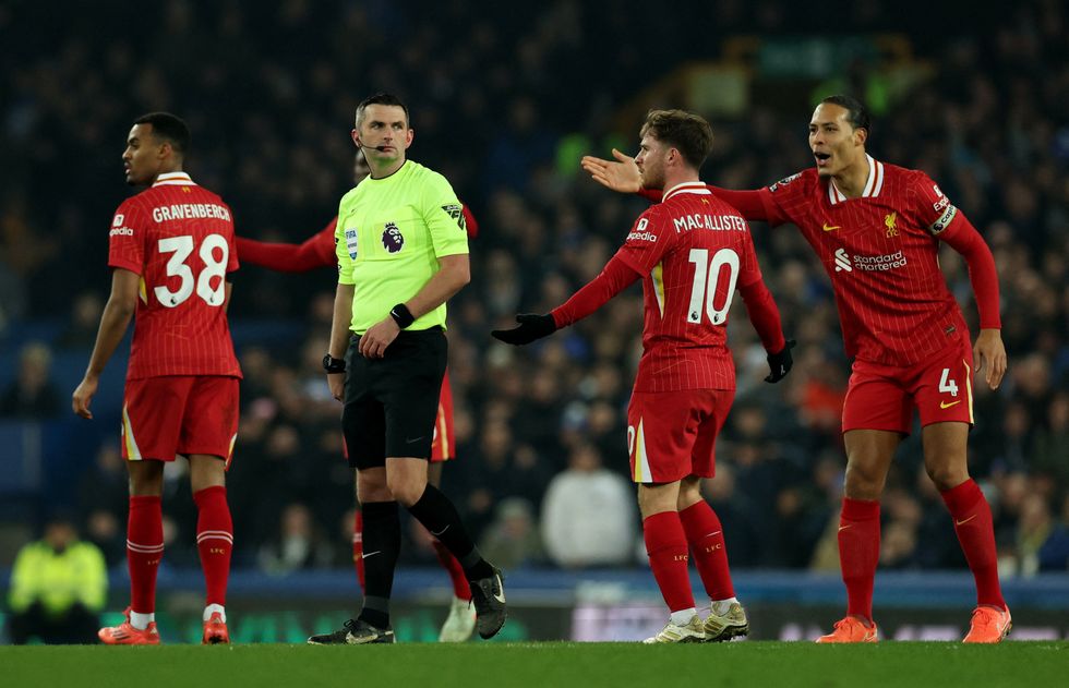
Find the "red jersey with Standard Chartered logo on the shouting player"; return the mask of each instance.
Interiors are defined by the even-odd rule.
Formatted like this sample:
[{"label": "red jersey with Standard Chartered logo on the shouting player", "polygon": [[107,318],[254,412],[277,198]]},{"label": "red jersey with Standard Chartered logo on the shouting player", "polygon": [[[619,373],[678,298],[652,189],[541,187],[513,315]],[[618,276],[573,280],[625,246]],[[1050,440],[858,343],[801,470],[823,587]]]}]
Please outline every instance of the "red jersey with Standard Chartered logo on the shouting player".
[{"label": "red jersey with Standard Chartered logo on the shouting player", "polygon": [[868,165],[860,198],[810,168],[761,189],[761,201],[769,224],[797,225],[824,263],[846,354],[913,365],[969,335],[939,269],[937,237],[958,208],[924,172]]}]

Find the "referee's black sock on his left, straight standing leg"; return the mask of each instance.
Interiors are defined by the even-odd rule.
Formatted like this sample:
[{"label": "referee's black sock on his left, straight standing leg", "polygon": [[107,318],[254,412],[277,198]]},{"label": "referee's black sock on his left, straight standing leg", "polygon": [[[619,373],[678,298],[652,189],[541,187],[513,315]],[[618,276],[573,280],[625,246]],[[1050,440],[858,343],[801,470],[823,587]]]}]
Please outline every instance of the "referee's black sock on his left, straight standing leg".
[{"label": "referee's black sock on his left, straight standing leg", "polygon": [[394,567],[400,553],[400,515],[396,502],[370,502],[362,510],[364,603],[360,618],[375,628],[387,628]]}]

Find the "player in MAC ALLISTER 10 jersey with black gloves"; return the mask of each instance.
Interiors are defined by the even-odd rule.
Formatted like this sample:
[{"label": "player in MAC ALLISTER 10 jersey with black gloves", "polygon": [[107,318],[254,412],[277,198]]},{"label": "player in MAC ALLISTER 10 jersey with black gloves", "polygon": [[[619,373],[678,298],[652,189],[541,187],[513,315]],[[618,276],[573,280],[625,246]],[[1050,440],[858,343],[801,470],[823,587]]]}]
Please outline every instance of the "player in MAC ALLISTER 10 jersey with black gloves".
[{"label": "player in MAC ALLISTER 10 jersey with black gloves", "polygon": [[[723,529],[701,497],[713,475],[714,443],[735,394],[728,311],[735,288],[769,352],[771,374],[791,369],[780,313],[761,280],[749,227],[698,181],[712,147],[709,123],[682,110],[651,110],[636,164],[646,189],[666,189],[642,213],[601,274],[546,315],[517,316],[493,336],[524,345],[579,321],[642,280],[642,358],[627,410],[627,450],[650,568],[671,620],[654,642],[730,640],[749,630],[735,599]],[[687,575],[687,550],[709,594],[702,621]]]}]

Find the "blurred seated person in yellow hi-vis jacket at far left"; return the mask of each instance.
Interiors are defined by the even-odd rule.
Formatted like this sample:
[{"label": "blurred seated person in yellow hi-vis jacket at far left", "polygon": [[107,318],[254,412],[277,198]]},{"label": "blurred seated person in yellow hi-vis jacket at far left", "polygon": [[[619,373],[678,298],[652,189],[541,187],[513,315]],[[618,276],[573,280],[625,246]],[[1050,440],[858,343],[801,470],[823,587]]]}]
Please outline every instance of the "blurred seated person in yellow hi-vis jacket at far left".
[{"label": "blurred seated person in yellow hi-vis jacket at far left", "polygon": [[53,515],[44,538],[23,547],[11,570],[11,642],[95,643],[107,593],[100,551],[79,541],[73,519]]}]

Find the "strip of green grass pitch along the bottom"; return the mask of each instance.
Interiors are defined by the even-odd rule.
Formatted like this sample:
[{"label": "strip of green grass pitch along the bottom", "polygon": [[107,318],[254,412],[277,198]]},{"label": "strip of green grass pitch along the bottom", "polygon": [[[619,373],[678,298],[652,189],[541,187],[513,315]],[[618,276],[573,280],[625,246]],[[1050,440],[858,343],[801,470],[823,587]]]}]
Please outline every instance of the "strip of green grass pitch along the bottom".
[{"label": "strip of green grass pitch along the bottom", "polygon": [[1065,685],[1069,642],[289,644],[0,648],[3,686],[970,686]]}]

